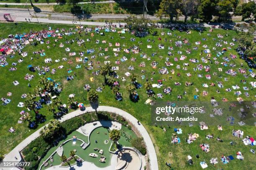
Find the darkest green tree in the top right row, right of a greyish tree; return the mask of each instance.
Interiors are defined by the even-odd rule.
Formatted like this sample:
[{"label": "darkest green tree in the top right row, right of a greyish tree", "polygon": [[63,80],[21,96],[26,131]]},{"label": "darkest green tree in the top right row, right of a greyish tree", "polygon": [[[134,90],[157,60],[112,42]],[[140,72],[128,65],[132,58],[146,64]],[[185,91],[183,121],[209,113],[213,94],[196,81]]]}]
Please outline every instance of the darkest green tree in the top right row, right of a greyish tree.
[{"label": "darkest green tree in the top right row, right of a greyish tree", "polygon": [[216,14],[216,1],[217,0],[201,0],[197,8],[198,17],[203,21],[212,20],[212,15]]}]

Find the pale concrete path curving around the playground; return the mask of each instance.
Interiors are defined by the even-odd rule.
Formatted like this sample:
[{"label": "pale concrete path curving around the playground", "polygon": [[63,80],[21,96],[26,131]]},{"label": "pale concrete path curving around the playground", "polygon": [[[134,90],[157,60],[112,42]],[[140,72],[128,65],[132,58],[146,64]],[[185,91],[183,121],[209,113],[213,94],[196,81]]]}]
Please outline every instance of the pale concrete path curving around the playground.
[{"label": "pale concrete path curving around the playground", "polygon": [[[95,110],[92,107],[86,107],[86,109],[84,111],[76,110],[74,112],[68,113],[67,115],[64,115],[63,117],[61,117],[61,119],[59,119],[59,121],[64,122],[65,120],[69,120],[73,117],[82,115],[87,112],[94,112],[94,111]],[[147,148],[147,152],[148,152],[148,158],[150,160],[151,170],[158,170],[156,151],[155,151],[153,142],[152,142],[150,136],[148,135],[147,130],[144,128],[144,126],[141,123],[140,123],[140,125],[138,125],[138,123],[137,123],[138,120],[135,117],[133,117],[133,115],[129,114],[128,112],[125,112],[124,110],[118,109],[116,107],[110,107],[110,106],[99,106],[97,108],[97,111],[98,112],[100,112],[100,111],[112,112],[112,113],[115,113],[115,114],[118,114],[118,115],[124,117],[126,120],[131,122],[137,128],[137,130],[139,131],[139,133],[141,134],[141,136],[143,137],[143,139],[146,143],[146,148]],[[44,126],[42,128],[44,128]],[[8,153],[5,156],[4,161],[20,161],[21,160],[20,151],[23,150],[29,143],[31,143],[33,140],[35,140],[36,138],[38,138],[40,136],[40,131],[42,128],[38,129],[36,132],[34,132],[30,136],[28,136],[28,138],[23,140],[12,151],[10,151],[10,153]],[[4,170],[14,170],[14,168],[4,168]]]}]

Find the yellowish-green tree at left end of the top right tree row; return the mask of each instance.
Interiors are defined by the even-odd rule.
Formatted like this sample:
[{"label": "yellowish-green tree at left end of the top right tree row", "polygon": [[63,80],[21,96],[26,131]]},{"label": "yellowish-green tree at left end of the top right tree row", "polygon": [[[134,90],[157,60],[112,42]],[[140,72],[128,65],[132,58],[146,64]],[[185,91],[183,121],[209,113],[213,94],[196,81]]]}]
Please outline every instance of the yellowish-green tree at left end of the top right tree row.
[{"label": "yellowish-green tree at left end of the top right tree row", "polygon": [[179,5],[180,0],[162,0],[160,3],[160,9],[157,16],[161,19],[164,17],[169,17],[171,21],[175,17],[176,20],[179,17]]}]

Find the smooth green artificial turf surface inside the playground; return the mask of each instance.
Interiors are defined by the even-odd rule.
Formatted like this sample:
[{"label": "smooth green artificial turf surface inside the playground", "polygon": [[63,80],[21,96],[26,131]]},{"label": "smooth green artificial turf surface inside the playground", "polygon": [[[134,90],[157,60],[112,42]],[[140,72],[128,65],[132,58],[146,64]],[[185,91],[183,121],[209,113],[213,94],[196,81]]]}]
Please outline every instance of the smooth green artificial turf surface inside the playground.
[{"label": "smooth green artificial turf surface inside the playground", "polygon": [[[136,138],[135,133],[132,130],[129,130],[127,127],[122,126],[121,131],[125,132],[125,134],[129,135],[129,138]],[[105,133],[107,135],[105,135]],[[74,131],[72,132],[70,135],[67,136],[66,139],[61,140],[59,142],[59,145],[61,143],[63,143],[64,141],[71,139],[73,136],[77,136],[77,138],[83,140],[84,142],[88,143],[88,137],[82,135],[81,133]],[[95,140],[97,140],[97,143],[95,143]],[[105,144],[104,141],[108,140],[108,143]],[[85,161],[88,162],[92,162],[94,163],[97,167],[100,168],[104,168],[110,165],[110,160],[112,158],[112,154],[108,151],[111,145],[111,141],[109,140],[109,133],[108,133],[108,128],[96,128],[95,130],[92,131],[91,135],[90,135],[90,145],[88,146],[88,148],[86,148],[85,150],[83,150],[80,145],[82,144],[82,142],[80,140],[77,140],[77,143],[75,145],[72,144],[73,140],[67,142],[65,145],[63,145],[63,155],[66,155],[67,158],[69,158],[69,153],[71,150],[76,149],[76,155],[78,155],[80,158],[82,158]],[[131,143],[128,142],[127,140],[125,140],[125,138],[123,136],[121,136],[120,140],[118,140],[118,143],[122,146],[126,146],[126,147],[131,147]],[[47,159],[49,158],[49,156],[59,147],[59,145],[51,148],[46,156],[44,156],[44,158],[42,158],[40,165]],[[105,163],[100,163],[99,159],[100,159],[100,153],[98,153],[97,151],[94,151],[94,148],[98,148],[98,149],[102,149],[103,150],[103,155],[106,157],[106,161]],[[90,153],[96,153],[98,155],[98,158],[92,158],[89,156]],[[52,163],[54,166],[55,165],[60,165],[61,161],[60,161],[60,157],[58,154],[54,154],[53,156],[54,158],[54,162]],[[48,161],[49,164],[51,164],[50,161]],[[42,167],[42,170],[47,169],[49,167]]]}]

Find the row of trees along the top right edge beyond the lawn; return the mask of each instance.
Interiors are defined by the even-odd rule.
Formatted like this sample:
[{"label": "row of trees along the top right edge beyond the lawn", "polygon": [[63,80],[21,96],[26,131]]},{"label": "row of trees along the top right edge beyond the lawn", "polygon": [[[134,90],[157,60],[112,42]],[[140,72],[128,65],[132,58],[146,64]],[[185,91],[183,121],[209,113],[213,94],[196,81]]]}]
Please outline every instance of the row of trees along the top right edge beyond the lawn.
[{"label": "row of trees along the top right edge beyond the lawn", "polygon": [[169,17],[171,21],[184,15],[186,23],[188,17],[209,22],[212,16],[217,16],[219,21],[226,21],[231,18],[232,12],[235,12],[235,15],[242,15],[243,20],[255,20],[255,2],[238,5],[239,2],[239,0],[162,0],[157,15],[159,18]]}]

